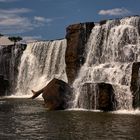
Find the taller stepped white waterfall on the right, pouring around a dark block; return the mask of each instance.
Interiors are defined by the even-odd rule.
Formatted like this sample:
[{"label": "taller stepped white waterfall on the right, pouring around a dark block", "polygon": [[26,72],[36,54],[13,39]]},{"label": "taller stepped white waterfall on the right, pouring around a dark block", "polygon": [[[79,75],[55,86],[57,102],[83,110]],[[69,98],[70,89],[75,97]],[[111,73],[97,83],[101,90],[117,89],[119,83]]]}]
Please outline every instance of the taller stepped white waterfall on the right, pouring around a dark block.
[{"label": "taller stepped white waterfall on the right, pouring around a dark block", "polygon": [[104,82],[113,85],[118,102],[117,109],[131,109],[132,64],[140,61],[140,17],[96,24],[88,40],[86,54],[86,62],[73,83],[73,107],[83,107],[78,106],[78,99],[84,83]]}]

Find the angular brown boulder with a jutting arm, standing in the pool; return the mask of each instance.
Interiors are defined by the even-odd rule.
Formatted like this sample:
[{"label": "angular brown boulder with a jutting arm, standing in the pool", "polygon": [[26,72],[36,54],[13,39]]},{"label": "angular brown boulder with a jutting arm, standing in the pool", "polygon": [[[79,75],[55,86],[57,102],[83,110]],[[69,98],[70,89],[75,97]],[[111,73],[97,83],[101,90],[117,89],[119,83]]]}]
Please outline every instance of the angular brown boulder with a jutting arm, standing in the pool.
[{"label": "angular brown boulder with a jutting arm, standing in the pool", "polygon": [[32,92],[34,93],[32,99],[42,93],[45,107],[49,110],[63,110],[69,106],[72,90],[67,83],[54,78],[43,89]]}]

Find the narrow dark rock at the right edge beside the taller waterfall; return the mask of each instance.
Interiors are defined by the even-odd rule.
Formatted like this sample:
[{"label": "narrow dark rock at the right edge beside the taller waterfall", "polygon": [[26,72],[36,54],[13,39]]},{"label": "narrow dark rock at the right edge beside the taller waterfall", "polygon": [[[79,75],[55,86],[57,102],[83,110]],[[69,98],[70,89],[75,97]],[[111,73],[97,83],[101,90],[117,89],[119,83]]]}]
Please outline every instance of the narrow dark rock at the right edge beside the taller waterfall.
[{"label": "narrow dark rock at the right edge beside the taller waterfall", "polygon": [[131,74],[131,92],[133,95],[133,107],[140,107],[140,62],[133,63]]}]

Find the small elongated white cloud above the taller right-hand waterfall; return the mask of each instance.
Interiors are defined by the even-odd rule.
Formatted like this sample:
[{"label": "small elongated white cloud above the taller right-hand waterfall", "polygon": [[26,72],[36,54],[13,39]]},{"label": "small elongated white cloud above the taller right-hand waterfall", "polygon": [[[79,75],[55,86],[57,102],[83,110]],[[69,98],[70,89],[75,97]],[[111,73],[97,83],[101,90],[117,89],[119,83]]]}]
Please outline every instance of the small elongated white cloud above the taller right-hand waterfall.
[{"label": "small elongated white cloud above the taller right-hand waterfall", "polygon": [[131,12],[125,8],[114,8],[114,9],[108,9],[108,10],[100,10],[98,14],[117,16],[117,15],[127,15],[129,13]]}]

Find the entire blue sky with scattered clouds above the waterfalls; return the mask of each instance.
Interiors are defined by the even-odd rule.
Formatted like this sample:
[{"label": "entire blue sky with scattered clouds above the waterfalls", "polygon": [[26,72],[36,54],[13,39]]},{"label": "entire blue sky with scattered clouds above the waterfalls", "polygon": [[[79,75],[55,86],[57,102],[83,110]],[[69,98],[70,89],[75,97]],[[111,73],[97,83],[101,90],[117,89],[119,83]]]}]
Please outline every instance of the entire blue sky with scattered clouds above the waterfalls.
[{"label": "entire blue sky with scattered clouds above the waterfalls", "polygon": [[0,33],[59,39],[74,23],[140,15],[140,0],[0,0]]}]

